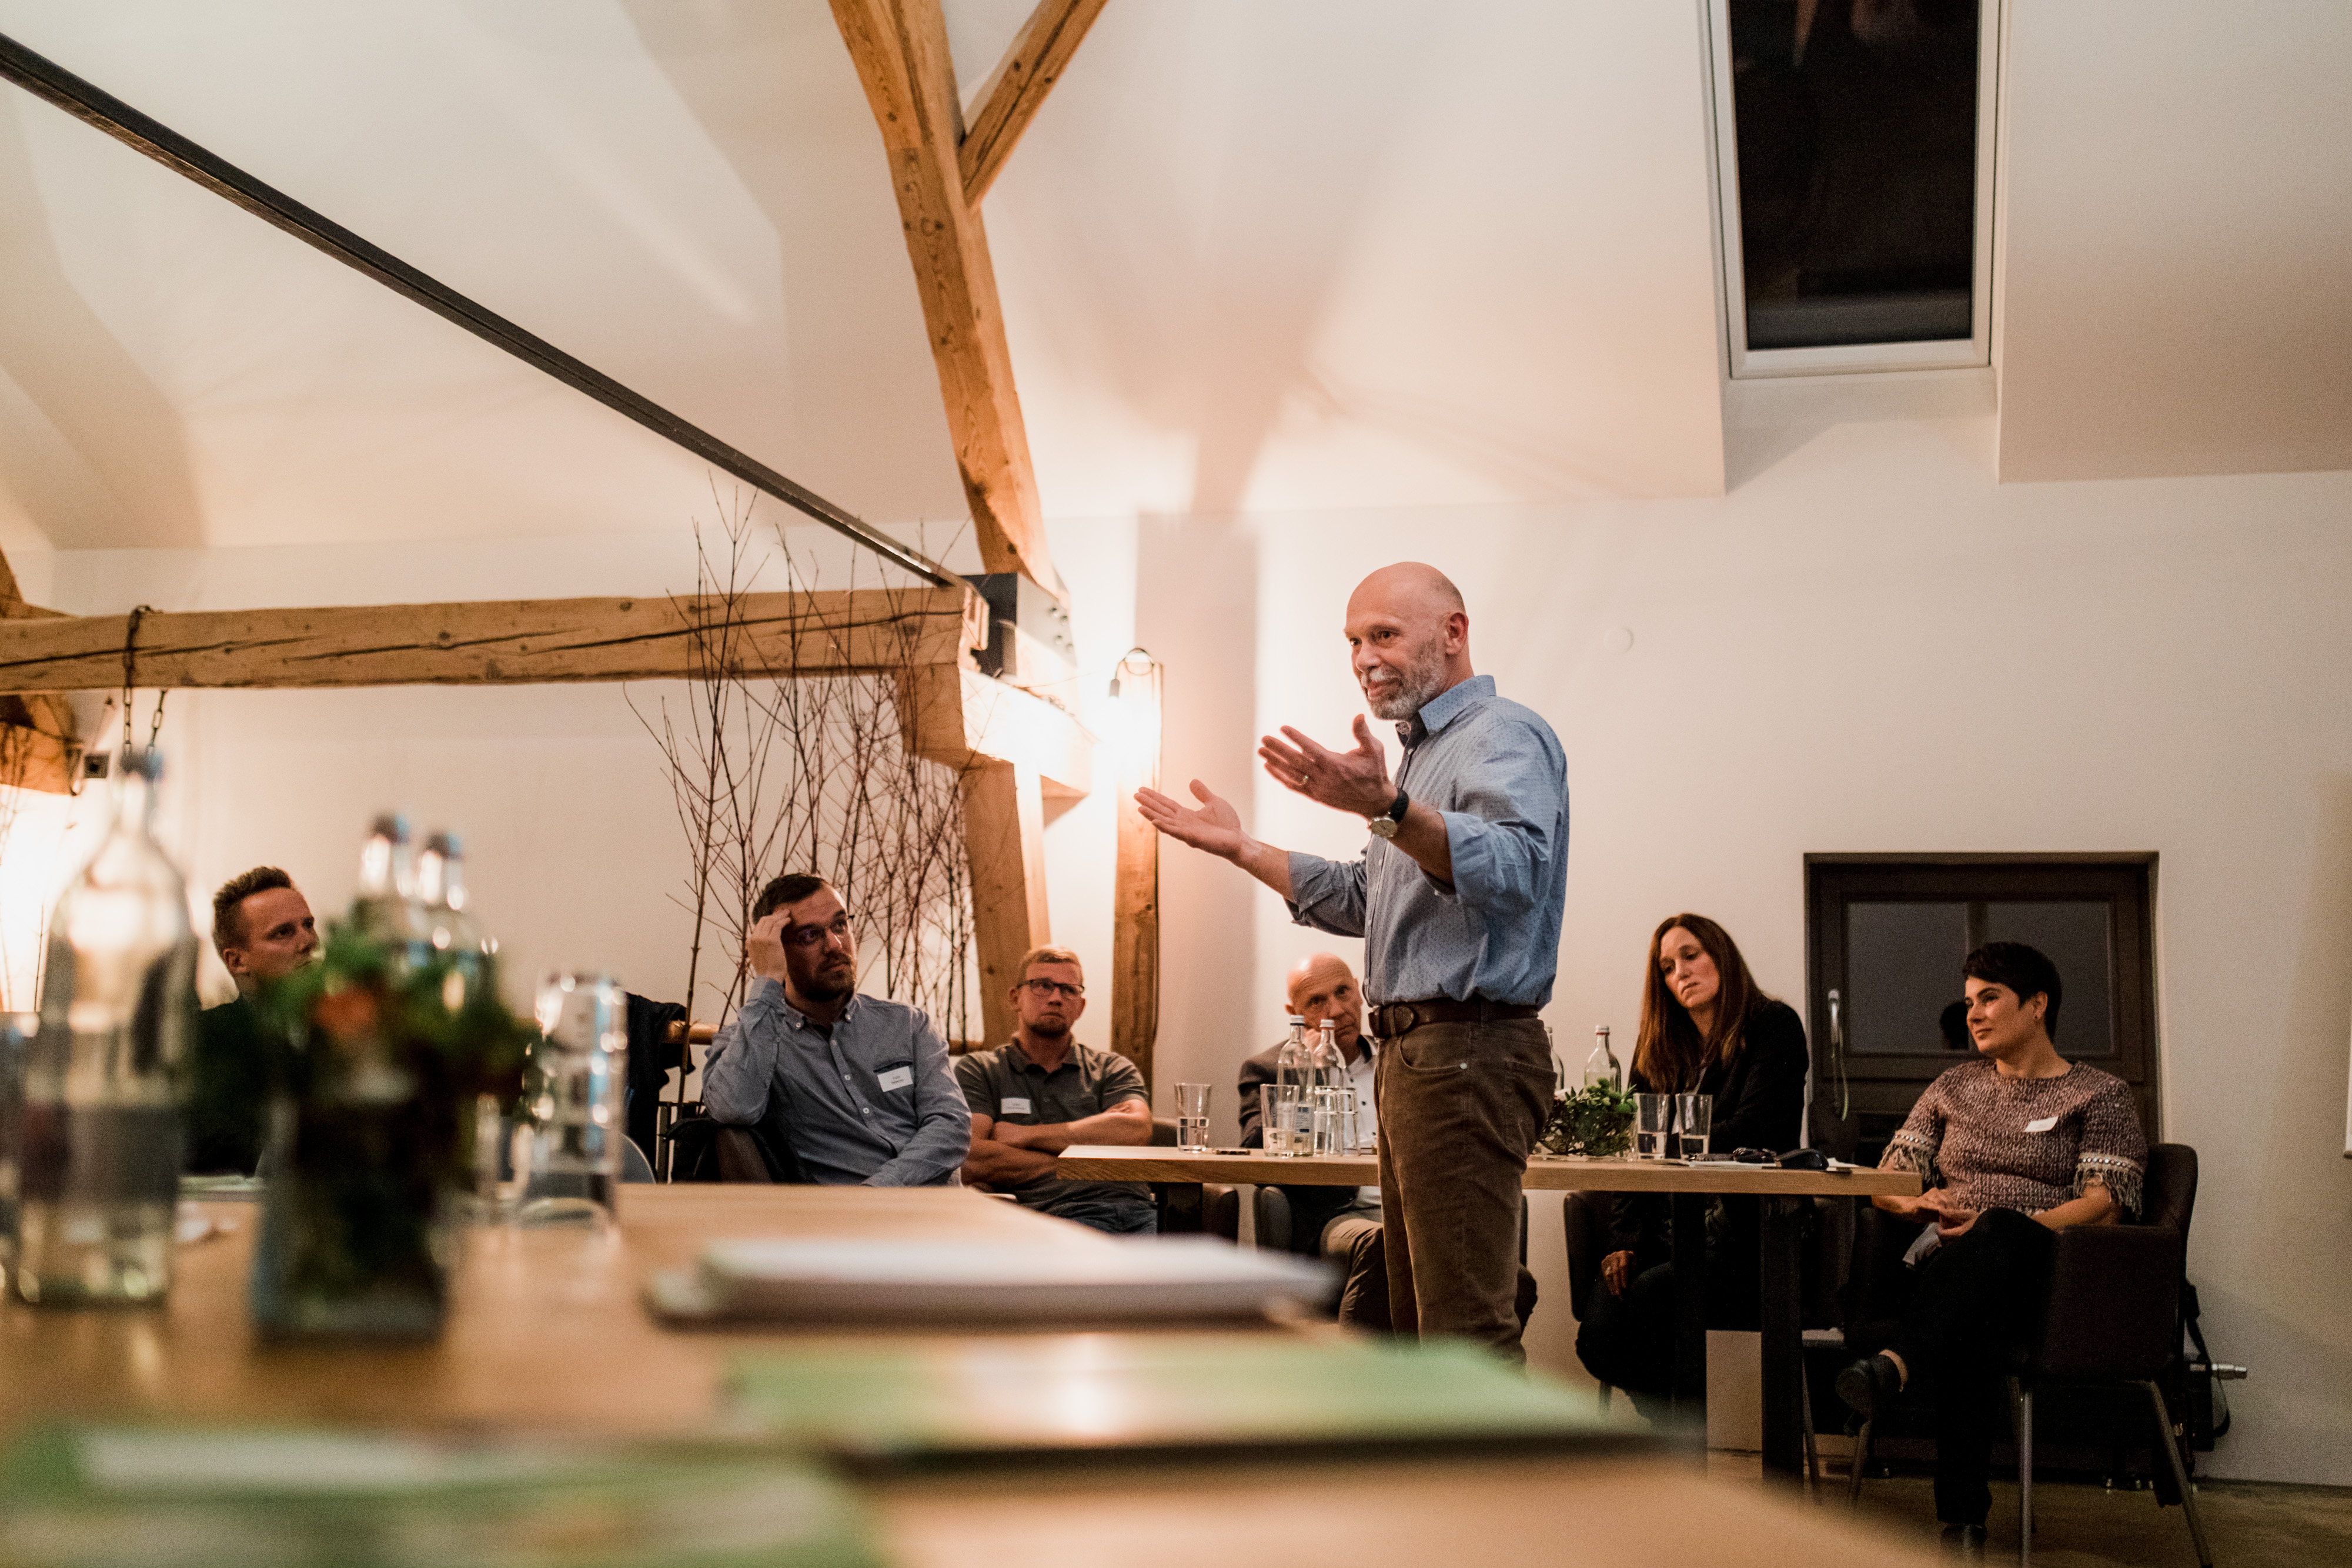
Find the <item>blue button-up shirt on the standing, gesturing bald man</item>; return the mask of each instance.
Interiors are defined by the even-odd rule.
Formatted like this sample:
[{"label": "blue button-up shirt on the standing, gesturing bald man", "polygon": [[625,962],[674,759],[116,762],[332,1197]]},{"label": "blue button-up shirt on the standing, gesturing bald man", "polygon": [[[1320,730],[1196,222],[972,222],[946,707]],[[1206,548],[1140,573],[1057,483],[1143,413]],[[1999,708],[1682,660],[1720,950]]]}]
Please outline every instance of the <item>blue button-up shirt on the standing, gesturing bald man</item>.
[{"label": "blue button-up shirt on the standing, gesturing bald man", "polygon": [[1397,785],[1446,818],[1454,882],[1390,842],[1362,860],[1291,853],[1291,919],[1364,938],[1364,997],[1543,1006],[1569,896],[1569,757],[1534,710],[1475,675],[1423,703]]}]

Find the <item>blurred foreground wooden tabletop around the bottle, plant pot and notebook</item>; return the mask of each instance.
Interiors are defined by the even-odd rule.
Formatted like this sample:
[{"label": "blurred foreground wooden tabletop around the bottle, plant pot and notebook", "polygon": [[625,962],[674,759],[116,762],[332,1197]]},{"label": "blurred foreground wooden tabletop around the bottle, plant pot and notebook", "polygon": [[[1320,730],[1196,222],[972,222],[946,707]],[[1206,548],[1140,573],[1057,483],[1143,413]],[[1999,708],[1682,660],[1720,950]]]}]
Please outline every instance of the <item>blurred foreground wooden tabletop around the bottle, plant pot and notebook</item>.
[{"label": "blurred foreground wooden tabletop around the bottle, plant pot and notebook", "polygon": [[[957,1187],[623,1187],[621,1225],[468,1237],[435,1345],[261,1345],[245,1316],[259,1204],[205,1204],[235,1229],[183,1246],[160,1309],[0,1307],[0,1432],[38,1418],[172,1415],[593,1434],[713,1420],[727,1361],[774,1331],[668,1331],[640,1305],[654,1269],[722,1237],[1004,1237],[1108,1246]],[[797,1331],[795,1331],[797,1333]],[[1237,1331],[1265,1333],[1265,1331]],[[896,1340],[896,1331],[800,1338]]]}]

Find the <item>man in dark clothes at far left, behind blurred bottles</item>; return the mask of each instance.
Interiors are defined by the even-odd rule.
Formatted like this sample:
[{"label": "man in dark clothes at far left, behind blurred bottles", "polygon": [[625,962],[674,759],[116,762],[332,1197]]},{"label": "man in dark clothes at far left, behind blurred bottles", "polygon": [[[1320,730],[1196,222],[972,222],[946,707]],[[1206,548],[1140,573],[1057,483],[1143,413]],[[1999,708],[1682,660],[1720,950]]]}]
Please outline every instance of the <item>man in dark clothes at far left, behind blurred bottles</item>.
[{"label": "man in dark clothes at far left, behind blurred bottles", "polygon": [[212,896],[212,950],[221,954],[238,999],[195,1018],[188,1063],[188,1171],[252,1175],[261,1164],[268,1084],[261,1065],[254,994],[318,954],[318,919],[294,879],[275,865],[230,877]]}]

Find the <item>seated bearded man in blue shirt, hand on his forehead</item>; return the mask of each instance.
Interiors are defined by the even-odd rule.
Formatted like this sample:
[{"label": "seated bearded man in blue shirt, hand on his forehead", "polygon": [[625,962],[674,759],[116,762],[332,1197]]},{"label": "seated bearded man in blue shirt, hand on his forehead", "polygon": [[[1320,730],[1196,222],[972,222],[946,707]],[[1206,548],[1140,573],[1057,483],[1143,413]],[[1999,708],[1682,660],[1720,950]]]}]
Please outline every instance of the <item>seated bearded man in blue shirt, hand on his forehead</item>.
[{"label": "seated bearded man in blue shirt, hand on his forehead", "polygon": [[823,877],[776,877],[743,938],[757,983],[710,1041],[713,1121],[783,1133],[830,1187],[948,1187],[971,1147],[971,1112],[931,1020],[861,997],[858,938]]}]

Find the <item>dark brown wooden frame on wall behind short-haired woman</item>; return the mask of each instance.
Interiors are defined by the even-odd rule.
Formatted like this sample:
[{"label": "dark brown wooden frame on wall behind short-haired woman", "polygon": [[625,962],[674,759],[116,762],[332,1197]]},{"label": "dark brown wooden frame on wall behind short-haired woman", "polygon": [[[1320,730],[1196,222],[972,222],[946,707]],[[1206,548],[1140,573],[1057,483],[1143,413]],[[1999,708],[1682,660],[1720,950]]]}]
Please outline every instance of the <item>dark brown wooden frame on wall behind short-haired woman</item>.
[{"label": "dark brown wooden frame on wall behind short-haired woman", "polygon": [[[1952,1051],[1884,1051],[1844,1056],[1830,1027],[1830,990],[1851,994],[1846,980],[1849,903],[2039,903],[2107,900],[2107,954],[2114,985],[2114,1056],[2091,1063],[2131,1086],[2140,1128],[2157,1140],[2161,1103],[2161,1039],[2157,1030],[2154,952],[2157,856],[2147,853],[1809,853],[1804,856],[1804,985],[1813,1044],[1813,1143],[1851,1159],[1860,1117],[1903,1117],[1955,1067]],[[1835,912],[1835,919],[1828,914]],[[1957,976],[1955,976],[1957,985]],[[1955,990],[1957,994],[1957,990]],[[2063,1018],[2060,1018],[2063,1023]],[[2065,1056],[2060,1030],[2058,1053]],[[2074,1058],[2067,1058],[2074,1060]],[[1842,1088],[1851,1114],[1839,1114]]]}]

